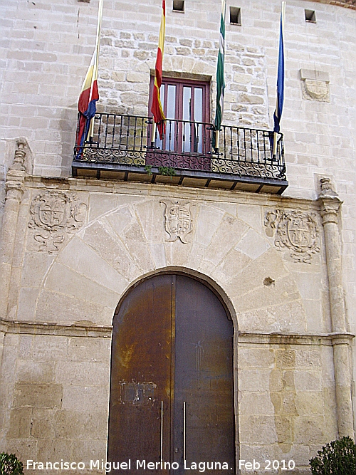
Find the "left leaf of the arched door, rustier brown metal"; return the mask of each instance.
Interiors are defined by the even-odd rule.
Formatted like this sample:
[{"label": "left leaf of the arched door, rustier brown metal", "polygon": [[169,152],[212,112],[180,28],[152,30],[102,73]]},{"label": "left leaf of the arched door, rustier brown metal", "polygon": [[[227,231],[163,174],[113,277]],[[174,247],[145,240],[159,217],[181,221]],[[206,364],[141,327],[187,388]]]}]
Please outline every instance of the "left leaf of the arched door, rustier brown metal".
[{"label": "left leaf of the arched door, rustier brown metal", "polygon": [[172,278],[157,276],[134,288],[115,314],[108,461],[156,462],[161,451],[169,460],[171,307]]}]

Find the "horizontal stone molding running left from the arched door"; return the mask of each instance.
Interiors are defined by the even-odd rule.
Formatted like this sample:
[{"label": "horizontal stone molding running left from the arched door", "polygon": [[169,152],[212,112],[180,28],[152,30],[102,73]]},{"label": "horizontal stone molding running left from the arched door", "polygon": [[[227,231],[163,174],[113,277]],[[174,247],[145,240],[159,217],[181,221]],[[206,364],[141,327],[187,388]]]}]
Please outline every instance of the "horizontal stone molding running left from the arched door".
[{"label": "horizontal stone molding running left from the arched door", "polygon": [[112,326],[58,325],[46,322],[19,322],[0,320],[0,331],[20,335],[53,335],[74,337],[111,338]]}]

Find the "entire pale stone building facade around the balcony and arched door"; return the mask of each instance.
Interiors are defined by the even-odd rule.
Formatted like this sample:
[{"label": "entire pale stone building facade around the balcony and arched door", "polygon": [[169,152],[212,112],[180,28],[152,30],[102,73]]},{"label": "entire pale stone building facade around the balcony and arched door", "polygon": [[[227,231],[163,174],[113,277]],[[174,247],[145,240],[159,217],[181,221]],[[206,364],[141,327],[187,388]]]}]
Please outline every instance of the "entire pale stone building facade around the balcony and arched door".
[{"label": "entire pale stone building facade around the balcony and arched door", "polygon": [[[164,71],[211,80],[213,118],[220,2],[186,3],[167,2]],[[356,12],[342,3],[288,2],[283,196],[70,177],[98,2],[0,7],[0,451],[105,460],[112,317],[163,271],[205,281],[234,321],[238,459],[307,474],[323,444],[354,437]],[[104,6],[98,110],[147,114],[159,4]],[[224,122],[268,128],[280,3],[239,6]],[[306,80],[327,84],[327,100],[305,97]]]}]

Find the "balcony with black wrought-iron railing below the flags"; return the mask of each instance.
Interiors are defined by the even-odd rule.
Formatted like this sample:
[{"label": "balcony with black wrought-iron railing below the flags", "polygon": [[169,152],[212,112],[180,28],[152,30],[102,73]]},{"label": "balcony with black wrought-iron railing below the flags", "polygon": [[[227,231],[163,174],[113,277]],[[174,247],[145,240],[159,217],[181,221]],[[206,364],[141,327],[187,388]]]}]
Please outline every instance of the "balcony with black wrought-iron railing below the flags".
[{"label": "balcony with black wrought-iron railing below the flags", "polygon": [[163,140],[152,118],[98,113],[94,133],[74,147],[73,176],[240,189],[281,194],[288,182],[283,136],[276,155],[273,132],[166,120]]}]

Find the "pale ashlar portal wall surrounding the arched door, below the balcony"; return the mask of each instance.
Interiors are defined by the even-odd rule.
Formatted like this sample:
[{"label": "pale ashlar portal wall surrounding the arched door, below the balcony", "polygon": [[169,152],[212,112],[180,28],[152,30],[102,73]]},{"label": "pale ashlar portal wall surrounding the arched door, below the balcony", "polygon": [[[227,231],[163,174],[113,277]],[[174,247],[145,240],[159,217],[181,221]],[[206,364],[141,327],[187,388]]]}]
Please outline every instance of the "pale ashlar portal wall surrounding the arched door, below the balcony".
[{"label": "pale ashlar portal wall surrounding the arched door, below the balcony", "polygon": [[[53,209],[58,197],[66,203],[61,226],[43,227],[40,204]],[[165,219],[171,205],[188,213],[186,234]],[[315,246],[304,254],[278,244],[276,222],[271,232],[291,209],[313,221]],[[19,216],[18,286],[2,327],[1,449],[24,460],[105,459],[112,316],[130,286],[162,270],[203,278],[234,320],[240,459],[293,459],[303,474],[315,450],[337,437],[318,204],[28,178]]]}]

